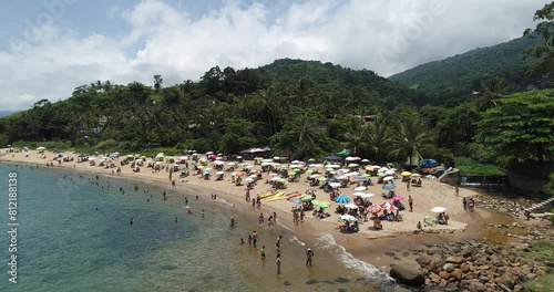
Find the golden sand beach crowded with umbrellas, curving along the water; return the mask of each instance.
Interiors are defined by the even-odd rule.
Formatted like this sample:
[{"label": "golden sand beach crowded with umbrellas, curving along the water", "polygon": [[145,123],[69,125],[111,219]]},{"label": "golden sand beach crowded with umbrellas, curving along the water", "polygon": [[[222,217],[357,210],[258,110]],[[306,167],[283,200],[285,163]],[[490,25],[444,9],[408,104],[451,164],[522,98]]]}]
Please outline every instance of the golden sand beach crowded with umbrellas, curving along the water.
[{"label": "golden sand beach crowded with umbrellas, curving along the water", "polygon": [[[140,173],[133,173],[130,165],[121,167],[121,174],[112,174],[116,168],[104,168],[100,166],[90,166],[89,163],[78,163],[78,154],[64,153],[63,155],[73,156],[75,159],[73,161],[65,161],[59,164],[57,160],[52,160],[57,157],[57,154],[51,152],[45,152],[47,158],[40,158],[40,154],[37,150],[30,150],[27,156],[25,153],[6,153],[6,149],[1,150],[2,156],[0,161],[4,163],[24,163],[30,165],[37,165],[41,168],[47,167],[47,163],[53,161],[53,168],[66,168],[75,169],[78,171],[86,171],[92,174],[98,174],[102,176],[113,176],[121,177],[124,179],[136,180],[148,184],[157,184],[161,186],[172,188],[171,180],[168,179],[168,173],[164,170],[158,173],[153,173],[151,168],[143,167]],[[247,161],[254,165],[253,161]],[[115,160],[119,165],[119,161]],[[259,165],[254,166],[255,169],[259,168]],[[214,174],[215,170],[212,170]],[[198,194],[217,194],[216,202],[227,202],[229,206],[235,206],[240,211],[259,213],[259,210],[252,210],[250,204],[245,201],[245,186],[235,186],[230,181],[230,173],[225,173],[225,178],[223,180],[216,181],[213,178],[211,180],[204,180],[198,176],[191,175],[185,178],[176,179],[176,190],[188,189],[198,190]],[[175,174],[177,176],[178,174]],[[285,194],[289,192],[301,192],[309,189],[309,184],[306,182],[307,175],[302,175],[299,182],[287,182],[287,188],[284,190]],[[175,178],[175,177],[174,177]],[[269,186],[265,184],[269,176],[263,174],[263,179],[258,181],[256,187],[250,191],[252,197],[256,197],[257,194],[264,194],[269,190]],[[373,179],[376,180],[376,179]],[[299,239],[306,237],[308,233],[329,233],[334,237],[335,241],[343,246],[350,253],[355,257],[366,260],[370,263],[376,264],[378,268],[386,268],[382,265],[382,261],[378,257],[373,257],[378,250],[384,249],[390,246],[394,240],[400,240],[406,242],[406,238],[413,237],[414,239],[421,237],[421,233],[414,234],[417,230],[418,221],[423,223],[425,216],[434,216],[431,212],[431,208],[440,206],[448,210],[450,216],[448,226],[423,226],[424,233],[432,234],[444,234],[444,233],[462,233],[469,227],[469,223],[474,222],[474,219],[463,210],[462,197],[476,197],[478,192],[471,189],[460,189],[460,194],[456,197],[453,187],[441,184],[437,180],[422,178],[422,187],[411,187],[410,191],[406,188],[406,182],[397,181],[397,196],[402,196],[406,198],[403,204],[407,206],[407,210],[401,211],[403,215],[403,221],[383,221],[382,230],[373,230],[372,221],[369,220],[360,225],[360,231],[357,233],[341,233],[336,229],[338,225],[341,223],[339,220],[339,215],[335,213],[335,208],[338,206],[337,202],[331,202],[331,206],[326,209],[331,216],[326,219],[314,218],[311,212],[306,212],[305,222],[295,226],[293,223],[291,207],[296,206],[286,199],[267,201],[264,199],[261,202],[261,211],[269,216],[271,212],[277,212],[279,222],[288,227]],[[340,188],[340,192],[349,198],[353,198],[353,188],[356,185],[350,185],[347,188]],[[202,191],[199,191],[202,190]],[[329,200],[329,195],[322,189],[315,188],[316,197],[319,200]],[[381,204],[383,201],[390,201],[390,199],[384,199],[380,196],[382,192],[381,185],[376,184],[375,186],[368,187],[365,192],[371,192],[376,196],[371,197],[370,200],[373,204]],[[413,198],[413,212],[408,211],[408,196],[411,195]],[[386,240],[389,238],[390,240]],[[379,244],[375,244],[375,239],[379,240]],[[388,242],[388,243],[387,243]],[[400,242],[397,242],[400,243]],[[381,248],[379,248],[381,247]]]}]

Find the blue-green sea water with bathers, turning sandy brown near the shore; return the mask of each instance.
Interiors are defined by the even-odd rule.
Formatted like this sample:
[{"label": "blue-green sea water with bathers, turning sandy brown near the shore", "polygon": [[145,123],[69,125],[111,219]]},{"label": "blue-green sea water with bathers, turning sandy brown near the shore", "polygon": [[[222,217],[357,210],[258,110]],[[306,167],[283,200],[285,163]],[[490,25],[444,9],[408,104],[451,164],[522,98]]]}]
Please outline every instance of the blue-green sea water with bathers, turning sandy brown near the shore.
[{"label": "blue-green sea water with bathers, turning sandy brown near the shore", "polygon": [[[12,254],[11,171],[18,175],[17,284],[9,282],[7,264]],[[240,212],[211,200],[209,194],[104,176],[96,180],[91,174],[29,165],[0,164],[0,291],[389,291],[393,286],[330,234],[301,242],[286,227],[259,227],[258,212]],[[193,215],[183,215],[185,197]],[[230,217],[237,227],[229,227]],[[239,244],[253,230],[260,237],[258,248]],[[283,264],[277,274],[279,234]],[[310,268],[305,265],[306,244],[316,251]],[[260,259],[261,246],[266,260]]]}]

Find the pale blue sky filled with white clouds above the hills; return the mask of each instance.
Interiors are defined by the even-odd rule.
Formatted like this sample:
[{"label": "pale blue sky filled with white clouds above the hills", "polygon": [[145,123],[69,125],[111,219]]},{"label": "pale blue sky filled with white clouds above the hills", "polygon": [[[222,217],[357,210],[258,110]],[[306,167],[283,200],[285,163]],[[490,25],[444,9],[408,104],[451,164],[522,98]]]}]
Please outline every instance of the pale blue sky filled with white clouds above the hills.
[{"label": "pale blue sky filled with white clouds above the hills", "polygon": [[96,80],[197,81],[290,58],[381,76],[519,38],[545,0],[29,0],[0,8],[0,109]]}]

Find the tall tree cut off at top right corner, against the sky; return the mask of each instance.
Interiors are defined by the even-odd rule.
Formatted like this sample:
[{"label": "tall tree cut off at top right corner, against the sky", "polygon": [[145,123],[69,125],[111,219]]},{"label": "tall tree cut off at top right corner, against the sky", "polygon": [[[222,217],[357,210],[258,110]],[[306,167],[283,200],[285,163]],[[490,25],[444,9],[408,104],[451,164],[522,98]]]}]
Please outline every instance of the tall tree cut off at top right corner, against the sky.
[{"label": "tall tree cut off at top right corner, against the sky", "polygon": [[533,21],[540,21],[535,29],[526,29],[523,35],[531,38],[542,36],[542,44],[527,49],[524,52],[525,58],[536,60],[536,63],[527,71],[531,75],[542,76],[554,69],[554,32],[552,31],[552,21],[554,20],[554,2],[545,4],[536,10]]}]

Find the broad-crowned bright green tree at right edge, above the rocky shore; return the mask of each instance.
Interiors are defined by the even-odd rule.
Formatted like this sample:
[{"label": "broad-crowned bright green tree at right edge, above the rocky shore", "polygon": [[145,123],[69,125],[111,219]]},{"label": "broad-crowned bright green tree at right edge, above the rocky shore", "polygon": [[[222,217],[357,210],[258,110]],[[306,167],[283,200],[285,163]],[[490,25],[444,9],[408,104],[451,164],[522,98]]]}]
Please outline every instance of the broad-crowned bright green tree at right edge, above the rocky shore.
[{"label": "broad-crowned bright green tree at right edge, above the rocky shore", "polygon": [[478,123],[476,140],[497,163],[554,159],[554,90],[505,96]]}]

